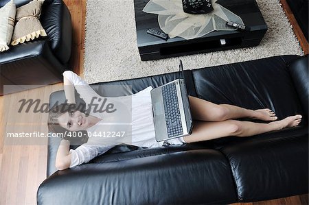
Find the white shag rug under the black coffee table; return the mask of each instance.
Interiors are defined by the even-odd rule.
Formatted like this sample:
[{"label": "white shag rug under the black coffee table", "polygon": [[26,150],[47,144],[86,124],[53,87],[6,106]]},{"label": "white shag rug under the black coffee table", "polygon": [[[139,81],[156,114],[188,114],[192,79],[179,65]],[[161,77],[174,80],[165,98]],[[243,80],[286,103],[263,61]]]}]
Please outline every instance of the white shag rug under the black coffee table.
[{"label": "white shag rug under the black coffee table", "polygon": [[279,0],[256,1],[268,25],[257,47],[144,62],[137,49],[133,0],[88,0],[84,79],[90,84],[170,73],[179,71],[179,59],[184,69],[198,69],[285,54],[303,56]]}]

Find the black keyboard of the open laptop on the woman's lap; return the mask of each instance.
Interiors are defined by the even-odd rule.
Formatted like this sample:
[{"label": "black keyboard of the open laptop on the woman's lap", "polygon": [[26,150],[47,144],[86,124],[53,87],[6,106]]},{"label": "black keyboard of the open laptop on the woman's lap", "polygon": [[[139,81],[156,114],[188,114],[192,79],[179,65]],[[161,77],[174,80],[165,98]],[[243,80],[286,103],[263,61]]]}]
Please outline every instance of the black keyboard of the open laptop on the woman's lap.
[{"label": "black keyboard of the open laptop on the woman's lap", "polygon": [[166,126],[168,128],[168,137],[183,134],[175,82],[163,86],[162,95]]}]

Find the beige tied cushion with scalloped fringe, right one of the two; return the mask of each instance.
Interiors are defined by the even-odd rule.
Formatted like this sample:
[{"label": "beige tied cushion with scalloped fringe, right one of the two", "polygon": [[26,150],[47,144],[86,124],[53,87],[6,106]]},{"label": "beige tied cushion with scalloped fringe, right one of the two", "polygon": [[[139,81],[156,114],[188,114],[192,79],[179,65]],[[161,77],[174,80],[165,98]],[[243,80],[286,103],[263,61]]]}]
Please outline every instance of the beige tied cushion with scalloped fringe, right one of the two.
[{"label": "beige tied cushion with scalloped fringe, right one of the two", "polygon": [[18,45],[25,41],[34,40],[39,36],[47,36],[39,19],[44,1],[34,0],[16,9],[16,25],[11,45]]}]

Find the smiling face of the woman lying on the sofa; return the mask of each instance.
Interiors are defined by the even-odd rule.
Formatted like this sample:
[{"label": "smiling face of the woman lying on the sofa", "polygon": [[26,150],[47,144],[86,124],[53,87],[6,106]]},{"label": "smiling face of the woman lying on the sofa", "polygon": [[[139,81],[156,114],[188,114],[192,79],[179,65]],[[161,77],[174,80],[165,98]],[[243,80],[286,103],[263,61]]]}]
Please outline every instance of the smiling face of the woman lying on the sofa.
[{"label": "smiling face of the woman lying on the sofa", "polygon": [[80,131],[90,128],[90,120],[86,114],[78,110],[65,112],[58,117],[58,123],[62,128],[69,131]]}]

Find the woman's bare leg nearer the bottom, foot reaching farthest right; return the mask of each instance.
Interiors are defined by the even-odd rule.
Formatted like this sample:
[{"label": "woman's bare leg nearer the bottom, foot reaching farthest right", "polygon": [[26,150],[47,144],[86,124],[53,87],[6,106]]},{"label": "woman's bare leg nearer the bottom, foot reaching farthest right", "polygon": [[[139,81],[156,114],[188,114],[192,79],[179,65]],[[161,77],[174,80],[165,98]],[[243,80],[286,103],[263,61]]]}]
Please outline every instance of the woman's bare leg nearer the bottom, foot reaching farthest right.
[{"label": "woman's bare leg nearer the bottom, foot reaching farthest right", "polygon": [[301,121],[301,115],[286,117],[271,123],[253,123],[249,121],[194,121],[192,134],[184,136],[186,143],[207,141],[225,136],[253,136],[283,128],[294,127]]}]

